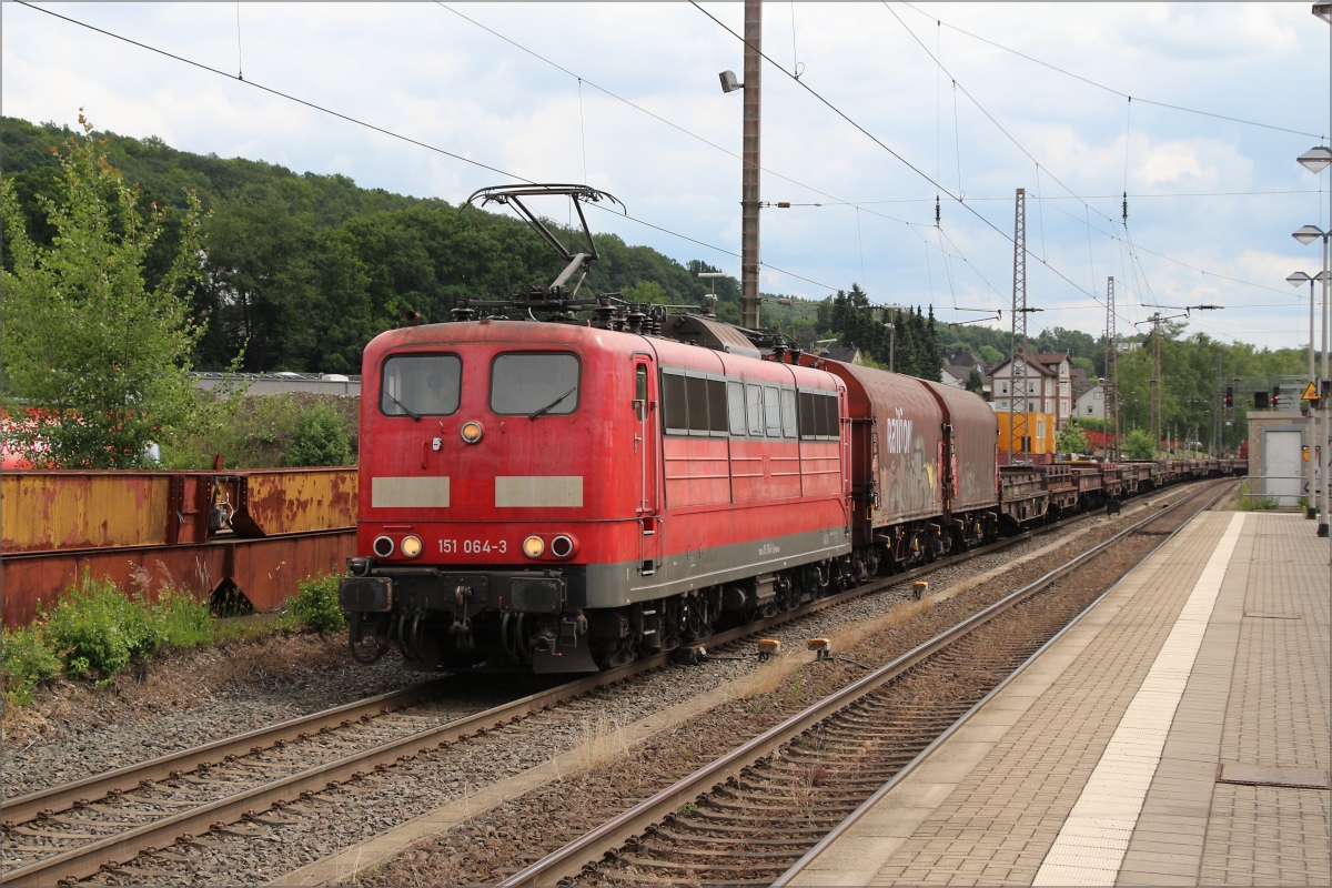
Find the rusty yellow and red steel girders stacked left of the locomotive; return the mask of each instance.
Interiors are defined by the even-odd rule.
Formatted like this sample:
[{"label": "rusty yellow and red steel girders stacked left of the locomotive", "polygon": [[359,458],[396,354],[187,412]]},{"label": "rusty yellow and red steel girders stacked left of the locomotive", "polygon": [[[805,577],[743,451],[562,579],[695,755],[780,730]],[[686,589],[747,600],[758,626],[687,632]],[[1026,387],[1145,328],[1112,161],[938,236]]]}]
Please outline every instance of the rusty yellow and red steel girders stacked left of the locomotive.
[{"label": "rusty yellow and red steel girders stacked left of the locomotive", "polygon": [[0,477],[4,624],[85,571],[155,595],[238,590],[270,610],[354,554],[357,471],[39,471]]}]

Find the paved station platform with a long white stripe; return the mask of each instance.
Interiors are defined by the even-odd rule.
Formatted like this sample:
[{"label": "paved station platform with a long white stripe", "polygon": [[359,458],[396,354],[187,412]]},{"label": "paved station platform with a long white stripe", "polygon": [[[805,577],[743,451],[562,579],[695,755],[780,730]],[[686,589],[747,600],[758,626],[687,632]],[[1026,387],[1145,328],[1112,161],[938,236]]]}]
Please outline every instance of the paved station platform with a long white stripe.
[{"label": "paved station platform with a long white stripe", "polygon": [[1301,515],[1203,513],[791,884],[1327,884],[1328,599]]}]

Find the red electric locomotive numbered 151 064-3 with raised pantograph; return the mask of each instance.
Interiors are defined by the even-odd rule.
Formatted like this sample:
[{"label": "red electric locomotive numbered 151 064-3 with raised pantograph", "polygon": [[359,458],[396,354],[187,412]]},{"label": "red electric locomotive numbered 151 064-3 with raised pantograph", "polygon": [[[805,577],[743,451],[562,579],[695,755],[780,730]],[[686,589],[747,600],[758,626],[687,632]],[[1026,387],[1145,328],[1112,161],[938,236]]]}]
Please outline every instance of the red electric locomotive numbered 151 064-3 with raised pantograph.
[{"label": "red electric locomotive numbered 151 064-3 with raised pantograph", "polygon": [[360,659],[396,642],[426,670],[593,671],[846,582],[846,385],[707,317],[566,294],[595,253],[526,212],[546,193],[602,197],[485,197],[561,250],[554,285],[365,350],[361,555],[340,590]]}]

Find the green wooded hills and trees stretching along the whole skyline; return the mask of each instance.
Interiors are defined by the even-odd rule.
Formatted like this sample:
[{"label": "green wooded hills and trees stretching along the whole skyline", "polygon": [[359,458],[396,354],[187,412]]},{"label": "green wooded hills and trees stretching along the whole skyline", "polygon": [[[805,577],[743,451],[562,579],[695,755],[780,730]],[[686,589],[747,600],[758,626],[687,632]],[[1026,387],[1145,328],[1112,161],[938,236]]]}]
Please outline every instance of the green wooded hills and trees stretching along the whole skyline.
[{"label": "green wooded hills and trees stretching along the whole skyline", "polygon": [[[53,149],[73,133],[51,124],[5,117],[0,122],[4,176],[13,184],[27,228],[37,244],[49,244],[43,198],[60,192]],[[81,133],[80,133],[81,136]],[[274,164],[176,150],[159,138],[95,133],[108,162],[137,182],[140,206],[180,206],[181,189],[193,189],[208,213],[202,229],[204,276],[193,293],[193,316],[205,322],[193,369],[228,366],[245,346],[246,371],[357,373],[361,350],[377,333],[397,326],[408,309],[426,321],[449,320],[462,296],[496,298],[534,284],[547,284],[562,261],[513,216],[462,209],[436,198],[360,188],[345,176],[296,173]],[[168,214],[168,230],[148,258],[147,285],[155,286],[178,249],[180,214]],[[575,234],[551,226],[566,242]],[[571,244],[570,244],[571,245]],[[601,261],[585,286],[623,292],[633,301],[701,305],[711,281],[698,272],[717,270],[693,260],[681,264],[619,237],[597,238]],[[9,252],[4,256],[9,268]],[[739,322],[734,278],[715,281],[722,320]],[[994,363],[1007,357],[1007,330],[938,322],[928,306],[884,312],[894,293],[866,293],[856,285],[822,302],[773,300],[761,308],[763,326],[775,328],[802,347],[815,342],[859,346],[871,363],[938,379],[942,349],[964,347]],[[894,325],[890,334],[884,324]],[[1134,335],[1142,341],[1142,335]],[[1054,328],[1032,337],[1034,351],[1068,351],[1074,362],[1099,377],[1104,339]],[[1207,335],[1183,337],[1168,326],[1163,343],[1166,423],[1211,429],[1216,409],[1216,359],[1225,377],[1299,374],[1304,353],[1225,345]],[[1148,422],[1147,349],[1120,357],[1127,427]],[[1243,411],[1247,405],[1237,402]],[[1243,413],[1228,426],[1231,443],[1243,435]],[[1205,434],[1204,434],[1205,437]]]}]

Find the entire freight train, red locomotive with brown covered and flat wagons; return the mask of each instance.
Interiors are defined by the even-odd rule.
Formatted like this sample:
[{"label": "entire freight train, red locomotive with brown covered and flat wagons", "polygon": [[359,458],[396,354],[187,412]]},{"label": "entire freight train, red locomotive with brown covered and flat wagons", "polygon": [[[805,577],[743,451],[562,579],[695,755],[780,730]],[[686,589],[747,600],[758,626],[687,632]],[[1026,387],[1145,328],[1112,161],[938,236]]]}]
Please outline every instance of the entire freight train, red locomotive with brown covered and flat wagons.
[{"label": "entire freight train, red locomotive with brown covered and flat wagons", "polygon": [[[669,651],[1196,463],[1000,466],[976,395],[802,353],[707,313],[579,297],[567,262],[365,349],[353,652],[418,670],[589,672]],[[542,320],[537,320],[537,316]],[[510,320],[518,317],[522,320]]]}]

